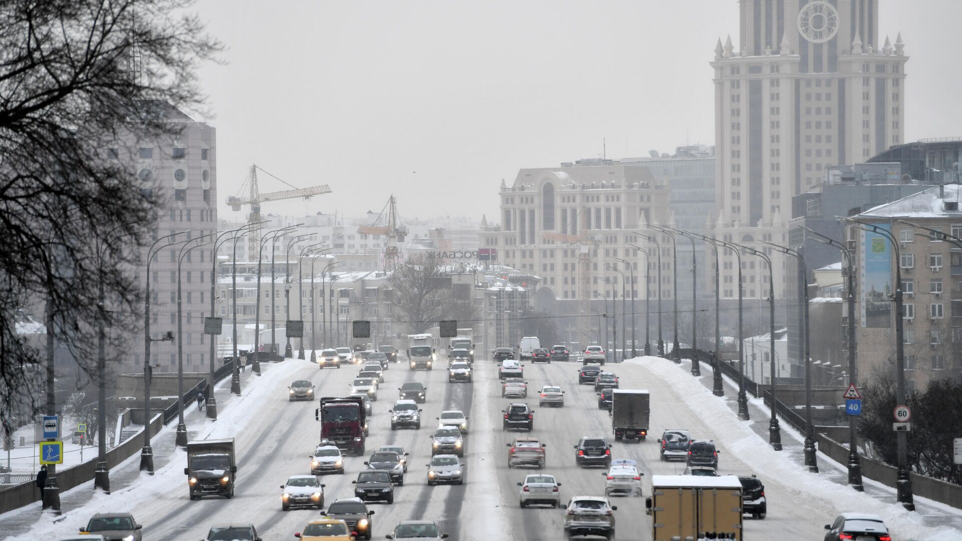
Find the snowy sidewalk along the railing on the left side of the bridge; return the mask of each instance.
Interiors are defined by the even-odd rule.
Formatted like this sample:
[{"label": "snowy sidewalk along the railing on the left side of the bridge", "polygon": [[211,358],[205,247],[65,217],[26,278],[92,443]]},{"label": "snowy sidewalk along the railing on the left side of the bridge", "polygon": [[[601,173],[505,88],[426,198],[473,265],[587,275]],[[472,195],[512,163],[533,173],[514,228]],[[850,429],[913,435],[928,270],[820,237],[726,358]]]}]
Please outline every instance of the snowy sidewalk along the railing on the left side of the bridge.
[{"label": "snowy sidewalk along the railing on the left side of the bridge", "polygon": [[[266,373],[266,371],[271,369],[271,366],[270,364],[262,363],[262,372]],[[241,372],[241,391],[252,383],[252,378],[257,378],[257,375],[254,374],[253,371]],[[237,397],[231,394],[231,378],[228,376],[215,384],[214,396],[217,399],[217,414],[220,415],[225,408],[230,407],[231,402],[242,398],[243,395]],[[194,439],[194,436],[196,436],[201,429],[210,423],[215,423],[215,421],[209,421],[206,413],[197,409],[196,400],[190,400],[184,404],[184,423],[188,428],[188,440],[191,440]],[[175,442],[176,431],[177,420],[174,419],[163,427],[160,432],[154,434],[154,437],[151,439],[151,445],[154,450],[154,471],[161,470],[173,455],[177,447]],[[143,439],[142,429],[134,438]],[[96,449],[93,449],[93,453],[95,455]],[[111,491],[114,492],[130,486],[137,482],[139,477],[140,453],[137,452],[111,470]],[[55,522],[65,519],[71,510],[87,504],[95,495],[92,480],[66,492],[61,492],[62,518],[55,519]],[[27,533],[30,528],[33,528],[40,521],[40,518],[40,502],[31,503],[30,505],[0,515],[0,531],[3,532],[3,534],[0,535],[0,539]],[[84,520],[86,521],[87,519]]]}]

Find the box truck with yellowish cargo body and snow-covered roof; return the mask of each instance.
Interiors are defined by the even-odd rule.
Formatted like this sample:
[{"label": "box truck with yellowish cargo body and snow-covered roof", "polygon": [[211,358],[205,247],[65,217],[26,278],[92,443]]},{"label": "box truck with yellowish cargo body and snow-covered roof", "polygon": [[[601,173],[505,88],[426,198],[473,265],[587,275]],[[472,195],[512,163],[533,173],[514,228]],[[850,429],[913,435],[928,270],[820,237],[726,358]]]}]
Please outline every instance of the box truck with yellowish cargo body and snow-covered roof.
[{"label": "box truck with yellowish cargo body and snow-covered roof", "polygon": [[738,477],[652,476],[645,506],[653,541],[742,539]]}]

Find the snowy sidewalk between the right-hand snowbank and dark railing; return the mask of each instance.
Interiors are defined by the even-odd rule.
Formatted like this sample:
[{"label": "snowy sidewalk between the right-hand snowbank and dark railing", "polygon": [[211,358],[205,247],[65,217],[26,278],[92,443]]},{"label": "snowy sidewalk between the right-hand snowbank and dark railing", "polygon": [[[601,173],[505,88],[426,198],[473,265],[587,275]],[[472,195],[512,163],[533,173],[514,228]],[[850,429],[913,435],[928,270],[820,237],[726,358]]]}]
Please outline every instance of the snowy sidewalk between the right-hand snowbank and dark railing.
[{"label": "snowy sidewalk between the right-hand snowbank and dark railing", "polygon": [[[682,359],[678,370],[691,373],[691,363],[690,359]],[[697,379],[705,388],[711,390],[711,366],[701,363],[701,377]],[[738,415],[738,382],[722,375],[722,385],[724,387],[725,403],[731,409],[732,415],[736,416]],[[750,394],[748,395],[748,416],[749,420],[747,424],[750,425],[751,430],[765,441],[768,441],[769,420],[772,418],[772,411],[764,405],[762,399],[754,399]],[[795,462],[799,469],[807,469],[803,450],[805,442],[804,434],[799,434],[795,428],[789,426],[781,418],[779,418],[778,421],[778,425],[781,427],[782,452]],[[817,457],[819,465],[818,476],[836,484],[848,485],[848,465],[839,464],[822,452],[819,452]],[[886,503],[897,502],[895,488],[874,481],[868,477],[863,477],[862,484],[865,487],[865,494],[872,496],[875,500]],[[854,493],[855,491],[852,490],[852,492]],[[915,497],[914,501],[916,513],[924,518],[926,524],[962,529],[962,509],[956,509],[945,503],[933,502],[918,496]],[[844,509],[840,509],[839,511],[841,512],[843,510]]]}]

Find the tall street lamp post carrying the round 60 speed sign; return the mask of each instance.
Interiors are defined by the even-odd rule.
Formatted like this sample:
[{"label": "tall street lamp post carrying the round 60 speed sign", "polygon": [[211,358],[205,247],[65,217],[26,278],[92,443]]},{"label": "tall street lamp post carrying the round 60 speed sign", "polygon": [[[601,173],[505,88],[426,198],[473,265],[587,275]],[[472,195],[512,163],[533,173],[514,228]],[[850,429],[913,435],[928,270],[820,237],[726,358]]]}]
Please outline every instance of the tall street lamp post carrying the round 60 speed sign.
[{"label": "tall street lamp post carrying the round 60 speed sign", "polygon": [[[901,253],[899,252],[899,240],[896,238],[891,231],[882,229],[881,227],[862,223],[855,220],[850,220],[856,227],[875,233],[876,235],[881,235],[885,237],[889,243],[892,244],[892,251],[896,255],[896,399],[899,400],[899,404],[905,403],[905,345],[904,345],[904,325],[905,322],[902,319],[904,314],[904,307],[902,305],[902,291],[901,291]],[[941,232],[939,232],[941,233]],[[942,234],[944,235],[944,234]],[[945,238],[945,237],[943,237]],[[912,475],[908,469],[908,440],[907,434],[904,430],[899,430],[896,432],[898,437],[899,445],[899,471],[896,480],[896,494],[899,502],[903,507],[909,511],[915,510],[915,502],[912,497]]]}]

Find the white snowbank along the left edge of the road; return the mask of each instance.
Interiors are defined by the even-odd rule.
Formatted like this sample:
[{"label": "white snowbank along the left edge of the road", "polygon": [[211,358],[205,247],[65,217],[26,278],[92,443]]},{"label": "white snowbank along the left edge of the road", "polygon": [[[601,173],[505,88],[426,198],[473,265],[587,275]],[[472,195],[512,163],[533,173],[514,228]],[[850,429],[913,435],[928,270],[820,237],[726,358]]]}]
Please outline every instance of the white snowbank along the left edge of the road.
[{"label": "white snowbank along the left edge of the road", "polygon": [[[189,429],[197,429],[194,439],[231,438],[239,434],[251,419],[264,409],[266,401],[276,399],[278,388],[283,389],[286,381],[298,370],[310,365],[310,361],[288,359],[278,364],[262,364],[264,375],[248,378],[245,385],[241,385],[241,396],[231,397],[226,401],[218,400],[217,420],[204,420],[199,428],[189,425]],[[269,367],[269,368],[267,368]],[[230,378],[224,380],[230,385]],[[224,405],[220,405],[223,403]],[[172,423],[154,436],[154,441],[160,438],[173,438],[177,425]],[[59,539],[63,536],[77,533],[78,525],[85,525],[94,513],[123,513],[130,512],[139,504],[156,501],[157,497],[174,491],[187,491],[184,468],[187,466],[187,452],[175,449],[170,461],[159,468],[153,476],[140,472],[137,481],[114,490],[111,494],[95,492],[89,502],[80,507],[64,509],[60,517],[45,512],[43,520],[24,535],[7,538],[7,541],[34,541],[36,539]],[[135,453],[115,469],[136,467],[140,461],[140,454]],[[81,484],[71,490],[93,490],[93,481]],[[0,516],[0,522],[22,509],[17,509]],[[51,520],[46,520],[49,517]],[[135,517],[137,518],[137,517]],[[56,521],[56,522],[54,522]]]}]

